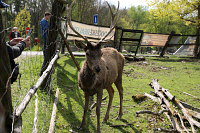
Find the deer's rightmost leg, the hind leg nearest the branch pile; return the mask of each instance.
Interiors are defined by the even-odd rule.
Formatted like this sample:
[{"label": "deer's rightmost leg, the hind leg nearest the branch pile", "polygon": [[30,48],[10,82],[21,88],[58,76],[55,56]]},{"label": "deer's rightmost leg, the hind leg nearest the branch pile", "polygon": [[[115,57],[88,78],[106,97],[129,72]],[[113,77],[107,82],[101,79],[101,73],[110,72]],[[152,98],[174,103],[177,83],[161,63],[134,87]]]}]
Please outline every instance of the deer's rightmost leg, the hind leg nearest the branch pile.
[{"label": "deer's rightmost leg, the hind leg nearest the branch pile", "polygon": [[123,107],[123,87],[122,87],[122,77],[118,76],[118,79],[115,82],[115,85],[117,87],[117,90],[119,92],[119,97],[120,97],[120,108],[119,108],[119,115],[117,119],[121,119],[123,112],[122,112],[122,107]]}]

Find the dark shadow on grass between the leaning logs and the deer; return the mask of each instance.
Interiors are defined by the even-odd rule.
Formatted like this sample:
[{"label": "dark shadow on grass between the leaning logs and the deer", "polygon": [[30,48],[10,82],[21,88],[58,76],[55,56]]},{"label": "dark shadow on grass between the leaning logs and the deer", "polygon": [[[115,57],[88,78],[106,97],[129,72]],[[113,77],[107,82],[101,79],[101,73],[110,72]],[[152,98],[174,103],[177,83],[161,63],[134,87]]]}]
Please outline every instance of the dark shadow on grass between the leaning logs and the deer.
[{"label": "dark shadow on grass between the leaning logs and the deer", "polygon": [[[82,62],[84,58],[78,58],[77,61]],[[77,85],[77,79],[78,79],[78,72],[75,71],[74,73],[70,71],[70,68],[67,68],[66,66],[70,65],[70,67],[75,68],[75,65],[71,59],[64,60],[64,65],[61,66],[60,64],[57,64],[57,86],[60,88],[63,94],[66,94],[66,98],[64,99],[63,104],[59,102],[58,104],[58,111],[63,116],[63,118],[69,123],[70,127],[73,131],[78,132],[78,128],[81,124],[80,118],[77,118],[76,113],[83,114],[84,110],[84,101],[83,96],[81,94],[81,91],[78,88]],[[75,80],[72,80],[75,79]],[[67,89],[66,85],[73,86],[71,89]],[[72,102],[74,100],[76,103]],[[80,105],[82,107],[82,110],[77,111],[73,110],[76,106],[76,104]],[[82,117],[81,117],[82,118]],[[96,126],[92,123],[92,120],[90,119],[90,115],[87,115],[87,124],[85,126],[85,129],[80,132],[90,132],[89,131],[89,125],[91,128],[96,132]]]}]

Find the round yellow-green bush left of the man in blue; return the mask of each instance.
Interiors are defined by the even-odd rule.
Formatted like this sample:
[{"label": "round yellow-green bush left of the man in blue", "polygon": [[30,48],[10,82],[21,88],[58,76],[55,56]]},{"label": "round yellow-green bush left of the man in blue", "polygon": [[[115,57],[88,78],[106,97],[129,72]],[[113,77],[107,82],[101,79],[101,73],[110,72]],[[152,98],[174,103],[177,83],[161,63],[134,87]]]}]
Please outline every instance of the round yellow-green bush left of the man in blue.
[{"label": "round yellow-green bush left of the man in blue", "polygon": [[19,12],[15,19],[15,26],[19,28],[19,31],[25,32],[26,27],[30,27],[31,24],[31,14],[24,8]]}]

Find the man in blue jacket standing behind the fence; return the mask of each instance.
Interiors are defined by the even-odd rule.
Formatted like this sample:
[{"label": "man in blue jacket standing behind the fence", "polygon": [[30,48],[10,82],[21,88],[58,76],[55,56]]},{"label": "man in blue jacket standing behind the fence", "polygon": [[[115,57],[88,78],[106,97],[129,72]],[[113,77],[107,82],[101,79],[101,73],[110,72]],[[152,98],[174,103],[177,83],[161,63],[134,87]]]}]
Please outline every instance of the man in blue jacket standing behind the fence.
[{"label": "man in blue jacket standing behind the fence", "polygon": [[41,28],[41,34],[43,39],[43,51],[45,52],[45,49],[47,48],[47,39],[48,39],[48,33],[49,33],[49,22],[48,20],[51,17],[51,13],[46,12],[44,14],[44,18],[40,21],[40,28]]}]

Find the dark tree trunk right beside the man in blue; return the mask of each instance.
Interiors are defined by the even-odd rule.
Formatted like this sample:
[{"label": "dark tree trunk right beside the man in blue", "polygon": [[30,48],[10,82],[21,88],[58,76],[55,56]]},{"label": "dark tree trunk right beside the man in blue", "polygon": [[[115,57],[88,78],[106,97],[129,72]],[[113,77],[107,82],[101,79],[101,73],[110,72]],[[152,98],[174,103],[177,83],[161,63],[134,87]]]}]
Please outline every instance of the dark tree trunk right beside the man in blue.
[{"label": "dark tree trunk right beside the man in blue", "polygon": [[[41,69],[41,75],[46,70],[51,58],[54,56],[56,52],[56,39],[58,36],[58,26],[60,26],[60,17],[63,14],[63,8],[64,8],[64,1],[61,0],[55,0],[52,4],[52,17],[50,20],[50,27],[49,27],[49,35],[48,35],[48,41],[47,41],[47,49],[45,50],[44,55],[44,62]],[[49,75],[50,76],[50,75]],[[47,79],[50,79],[50,77],[47,76],[47,78],[44,80],[41,87],[45,89],[46,85],[48,85]]]}]

